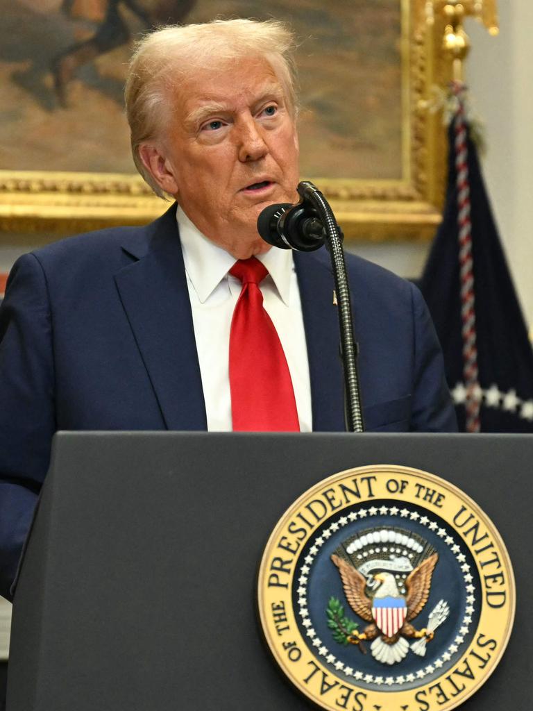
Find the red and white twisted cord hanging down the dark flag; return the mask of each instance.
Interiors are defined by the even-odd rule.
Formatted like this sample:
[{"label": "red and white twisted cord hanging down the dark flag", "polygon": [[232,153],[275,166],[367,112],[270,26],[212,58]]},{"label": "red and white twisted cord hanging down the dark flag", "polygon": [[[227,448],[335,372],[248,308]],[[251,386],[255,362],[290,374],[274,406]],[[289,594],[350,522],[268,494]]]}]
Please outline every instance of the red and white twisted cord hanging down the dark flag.
[{"label": "red and white twisted cord hanging down the dark flag", "polygon": [[465,122],[463,82],[453,82],[453,93],[458,101],[454,117],[459,268],[461,280],[461,321],[463,336],[463,380],[465,383],[466,431],[480,431],[481,388],[478,374],[478,348],[475,334],[474,269],[472,255],[472,223],[470,220],[470,178],[468,175],[468,143]]}]

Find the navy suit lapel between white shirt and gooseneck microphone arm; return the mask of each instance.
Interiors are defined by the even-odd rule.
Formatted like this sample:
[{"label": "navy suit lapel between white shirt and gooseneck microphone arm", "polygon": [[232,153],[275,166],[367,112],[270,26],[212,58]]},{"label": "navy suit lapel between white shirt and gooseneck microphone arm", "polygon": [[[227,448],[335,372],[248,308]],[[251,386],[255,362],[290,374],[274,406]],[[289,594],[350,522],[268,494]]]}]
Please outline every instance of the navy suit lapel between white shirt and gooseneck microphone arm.
[{"label": "navy suit lapel between white shirt and gooseneck microphone arm", "polygon": [[313,431],[343,432],[344,386],[339,355],[337,306],[333,274],[325,250],[295,252],[294,263],[306,330]]}]

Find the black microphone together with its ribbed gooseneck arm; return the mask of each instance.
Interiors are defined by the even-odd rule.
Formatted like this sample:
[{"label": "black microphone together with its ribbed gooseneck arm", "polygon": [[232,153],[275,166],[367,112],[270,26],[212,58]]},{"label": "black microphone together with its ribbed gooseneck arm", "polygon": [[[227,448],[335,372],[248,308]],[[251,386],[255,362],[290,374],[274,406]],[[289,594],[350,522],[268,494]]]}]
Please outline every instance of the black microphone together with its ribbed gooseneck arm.
[{"label": "black microphone together with its ribbed gooseneck arm", "polygon": [[325,243],[330,254],[337,296],[340,355],[345,386],[345,426],[347,432],[363,432],[357,343],[352,328],[350,287],[346,276],[343,232],[321,191],[309,181],[298,183],[298,205],[270,205],[259,215],[257,229],[266,242],[282,249],[316,250]]}]

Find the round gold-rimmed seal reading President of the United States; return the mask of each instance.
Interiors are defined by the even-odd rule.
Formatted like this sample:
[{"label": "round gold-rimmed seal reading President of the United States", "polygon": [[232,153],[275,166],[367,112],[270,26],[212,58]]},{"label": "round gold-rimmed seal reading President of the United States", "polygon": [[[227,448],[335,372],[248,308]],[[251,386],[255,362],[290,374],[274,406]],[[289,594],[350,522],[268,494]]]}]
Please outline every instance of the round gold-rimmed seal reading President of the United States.
[{"label": "round gold-rimmed seal reading President of the United States", "polygon": [[456,708],[500,661],[514,614],[490,519],[455,486],[403,466],[343,471],[304,493],[259,570],[276,662],[332,711]]}]

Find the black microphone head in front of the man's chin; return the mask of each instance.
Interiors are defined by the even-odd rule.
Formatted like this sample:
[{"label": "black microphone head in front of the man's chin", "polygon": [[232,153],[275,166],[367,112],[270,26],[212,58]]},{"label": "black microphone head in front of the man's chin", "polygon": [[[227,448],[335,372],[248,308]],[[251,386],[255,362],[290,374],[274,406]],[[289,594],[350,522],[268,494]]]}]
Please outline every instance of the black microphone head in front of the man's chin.
[{"label": "black microphone head in front of the man's chin", "polygon": [[269,245],[282,250],[313,252],[322,247],[325,230],[315,208],[304,203],[278,203],[264,208],[257,218],[257,232]]}]

